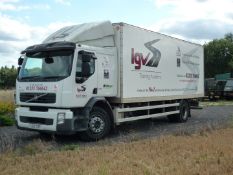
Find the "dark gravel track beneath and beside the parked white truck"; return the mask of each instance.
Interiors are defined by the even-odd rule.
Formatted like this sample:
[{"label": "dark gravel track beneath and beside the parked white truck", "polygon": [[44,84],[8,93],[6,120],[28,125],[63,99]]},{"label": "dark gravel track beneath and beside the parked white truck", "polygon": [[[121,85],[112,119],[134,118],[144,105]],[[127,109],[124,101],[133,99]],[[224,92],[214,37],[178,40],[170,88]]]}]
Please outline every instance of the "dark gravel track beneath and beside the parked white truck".
[{"label": "dark gravel track beneath and beside the parked white truck", "polygon": [[[233,106],[212,106],[204,107],[202,110],[192,110],[192,117],[186,123],[170,123],[166,117],[125,123],[118,126],[108,138],[98,143],[81,142],[77,135],[59,136],[55,140],[45,140],[53,142],[53,144],[55,142],[58,147],[67,144],[80,144],[83,146],[114,144],[116,142],[128,142],[167,134],[188,135],[206,129],[224,127],[230,121],[233,123]],[[21,131],[14,126],[2,127],[0,128],[0,152],[15,149],[38,138],[40,137],[37,132]]]}]

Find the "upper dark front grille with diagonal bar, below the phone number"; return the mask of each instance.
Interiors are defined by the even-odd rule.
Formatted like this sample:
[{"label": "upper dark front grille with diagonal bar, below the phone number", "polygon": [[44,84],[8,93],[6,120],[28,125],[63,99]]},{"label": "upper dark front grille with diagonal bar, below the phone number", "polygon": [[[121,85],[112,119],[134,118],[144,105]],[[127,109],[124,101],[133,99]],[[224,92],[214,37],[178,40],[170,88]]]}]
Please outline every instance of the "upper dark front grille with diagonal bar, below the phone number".
[{"label": "upper dark front grille with diagonal bar, below the phone number", "polygon": [[54,93],[20,93],[20,101],[26,103],[55,103]]}]

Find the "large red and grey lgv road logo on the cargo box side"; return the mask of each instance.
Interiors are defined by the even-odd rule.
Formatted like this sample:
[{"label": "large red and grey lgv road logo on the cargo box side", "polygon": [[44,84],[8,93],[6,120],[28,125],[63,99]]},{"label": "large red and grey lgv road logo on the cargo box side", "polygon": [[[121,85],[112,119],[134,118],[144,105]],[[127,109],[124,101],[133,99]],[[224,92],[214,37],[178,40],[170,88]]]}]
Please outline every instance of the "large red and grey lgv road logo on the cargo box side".
[{"label": "large red and grey lgv road logo on the cargo box side", "polygon": [[150,53],[144,56],[142,53],[135,52],[134,48],[131,49],[131,63],[136,65],[135,69],[141,69],[142,65],[149,67],[157,67],[161,58],[161,52],[153,47],[152,45],[158,42],[160,39],[155,39],[153,41],[147,42],[144,46],[152,52],[152,57]]}]

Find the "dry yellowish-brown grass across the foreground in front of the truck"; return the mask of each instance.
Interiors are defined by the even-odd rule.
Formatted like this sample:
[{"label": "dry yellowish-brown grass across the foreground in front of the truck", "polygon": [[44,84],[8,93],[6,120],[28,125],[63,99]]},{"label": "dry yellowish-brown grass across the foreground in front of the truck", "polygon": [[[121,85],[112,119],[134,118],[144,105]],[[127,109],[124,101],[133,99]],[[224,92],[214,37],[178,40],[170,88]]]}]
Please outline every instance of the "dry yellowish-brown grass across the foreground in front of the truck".
[{"label": "dry yellowish-brown grass across the foreground in front of the truck", "polygon": [[[233,128],[114,145],[49,151],[41,141],[0,156],[2,174],[213,174],[233,173]],[[39,147],[39,148],[38,148]]]}]

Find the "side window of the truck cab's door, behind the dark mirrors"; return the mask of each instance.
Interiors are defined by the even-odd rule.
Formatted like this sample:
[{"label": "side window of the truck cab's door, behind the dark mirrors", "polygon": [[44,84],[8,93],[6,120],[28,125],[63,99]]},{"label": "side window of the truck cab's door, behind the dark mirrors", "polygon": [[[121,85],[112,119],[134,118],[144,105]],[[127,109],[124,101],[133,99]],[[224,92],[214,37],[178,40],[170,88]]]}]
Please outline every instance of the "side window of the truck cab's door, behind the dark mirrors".
[{"label": "side window of the truck cab's door, behind the dark mirrors", "polygon": [[85,82],[95,72],[94,53],[80,51],[76,65],[76,83]]}]

